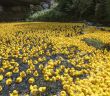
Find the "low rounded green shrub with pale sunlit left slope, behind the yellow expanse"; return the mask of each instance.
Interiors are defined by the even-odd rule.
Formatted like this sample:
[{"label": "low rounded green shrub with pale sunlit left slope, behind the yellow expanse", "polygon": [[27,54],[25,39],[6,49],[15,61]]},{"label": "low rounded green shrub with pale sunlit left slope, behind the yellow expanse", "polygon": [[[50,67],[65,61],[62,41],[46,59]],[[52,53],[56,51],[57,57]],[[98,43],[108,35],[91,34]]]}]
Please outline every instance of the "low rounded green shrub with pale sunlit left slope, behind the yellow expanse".
[{"label": "low rounded green shrub with pale sunlit left slope, behind the yellow expanse", "polygon": [[64,21],[66,17],[67,14],[63,12],[48,9],[34,13],[29,19],[32,21]]}]

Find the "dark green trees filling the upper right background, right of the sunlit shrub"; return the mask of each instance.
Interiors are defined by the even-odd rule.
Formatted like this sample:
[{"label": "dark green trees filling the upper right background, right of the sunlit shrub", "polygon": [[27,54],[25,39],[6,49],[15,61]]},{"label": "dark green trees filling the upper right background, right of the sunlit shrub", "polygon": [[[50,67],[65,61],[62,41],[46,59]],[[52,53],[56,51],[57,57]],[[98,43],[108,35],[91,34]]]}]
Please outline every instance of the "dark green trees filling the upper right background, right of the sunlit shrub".
[{"label": "dark green trees filling the upper right background, right of the sunlit shrub", "polygon": [[110,0],[57,0],[58,10],[75,19],[106,19],[110,15]]}]

